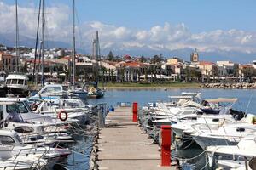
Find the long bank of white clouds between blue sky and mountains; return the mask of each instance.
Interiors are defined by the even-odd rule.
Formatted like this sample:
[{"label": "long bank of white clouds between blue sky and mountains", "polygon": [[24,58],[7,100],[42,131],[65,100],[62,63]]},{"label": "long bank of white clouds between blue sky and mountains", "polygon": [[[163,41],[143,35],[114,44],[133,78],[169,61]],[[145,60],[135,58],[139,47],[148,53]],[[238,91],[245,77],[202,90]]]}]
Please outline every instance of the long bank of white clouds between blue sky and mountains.
[{"label": "long bank of white clouds between blue sky and mountains", "polygon": [[[50,40],[72,42],[72,11],[66,5],[47,7],[46,36]],[[37,8],[19,7],[20,35],[35,37]],[[0,33],[15,33],[15,6],[0,2]],[[215,30],[193,33],[185,24],[153,26],[148,30],[113,26],[99,21],[81,23],[77,27],[77,40],[90,48],[96,31],[99,31],[102,48],[152,48],[154,50],[199,48],[256,52],[256,31]]]}]

